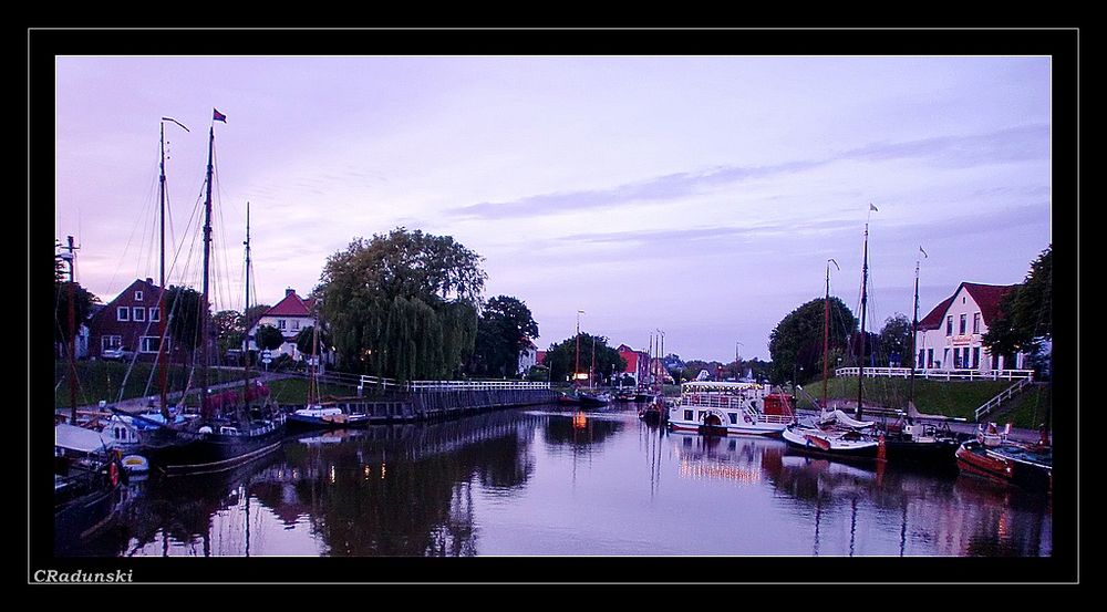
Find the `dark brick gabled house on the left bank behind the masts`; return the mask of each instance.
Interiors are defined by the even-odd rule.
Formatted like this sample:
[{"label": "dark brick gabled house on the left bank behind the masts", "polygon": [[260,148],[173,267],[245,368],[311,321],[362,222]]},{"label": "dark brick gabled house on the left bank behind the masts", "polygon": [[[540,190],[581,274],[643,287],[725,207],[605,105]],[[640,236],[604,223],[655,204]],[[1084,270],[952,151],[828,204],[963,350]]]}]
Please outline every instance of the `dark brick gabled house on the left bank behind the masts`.
[{"label": "dark brick gabled house on the left bank behind the masts", "polygon": [[[103,357],[108,349],[137,353],[139,360],[157,356],[161,339],[161,311],[157,300],[162,288],[154,279],[135,279],[114,300],[89,318],[86,354]],[[166,304],[166,309],[169,305]],[[166,339],[172,351],[172,339]]]}]

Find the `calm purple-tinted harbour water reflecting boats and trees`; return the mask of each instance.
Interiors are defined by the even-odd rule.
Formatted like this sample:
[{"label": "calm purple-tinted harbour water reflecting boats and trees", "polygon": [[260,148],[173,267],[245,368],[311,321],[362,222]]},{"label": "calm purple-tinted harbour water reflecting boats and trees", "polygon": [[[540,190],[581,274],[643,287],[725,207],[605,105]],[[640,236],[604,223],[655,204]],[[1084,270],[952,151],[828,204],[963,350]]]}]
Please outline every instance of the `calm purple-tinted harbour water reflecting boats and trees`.
[{"label": "calm purple-tinted harbour water reflecting boats and trees", "polygon": [[130,485],[60,553],[1052,554],[1045,497],[950,473],[704,438],[633,408],[517,409],[290,439],[216,475]]}]

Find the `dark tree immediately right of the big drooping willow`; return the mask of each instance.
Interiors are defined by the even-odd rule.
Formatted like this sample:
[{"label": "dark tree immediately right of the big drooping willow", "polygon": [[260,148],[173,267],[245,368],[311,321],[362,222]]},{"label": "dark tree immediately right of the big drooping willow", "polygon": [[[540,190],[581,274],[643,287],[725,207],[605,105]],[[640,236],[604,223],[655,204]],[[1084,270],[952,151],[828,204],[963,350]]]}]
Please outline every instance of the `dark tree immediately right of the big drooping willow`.
[{"label": "dark tree immediately right of the big drooping willow", "polygon": [[525,302],[508,295],[488,300],[477,320],[474,373],[514,376],[519,353],[535,338],[538,338],[538,323]]}]

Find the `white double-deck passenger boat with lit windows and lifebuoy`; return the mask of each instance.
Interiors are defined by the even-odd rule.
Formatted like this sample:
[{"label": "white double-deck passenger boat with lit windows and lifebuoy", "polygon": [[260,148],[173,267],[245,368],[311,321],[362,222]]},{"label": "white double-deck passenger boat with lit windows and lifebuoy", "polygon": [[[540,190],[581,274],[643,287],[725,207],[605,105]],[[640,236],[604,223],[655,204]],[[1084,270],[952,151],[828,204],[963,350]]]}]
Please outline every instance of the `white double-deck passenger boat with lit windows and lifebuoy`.
[{"label": "white double-deck passenger boat with lit windows and lifebuoy", "polygon": [[669,408],[669,426],[685,432],[778,435],[794,419],[790,398],[758,383],[684,383]]}]

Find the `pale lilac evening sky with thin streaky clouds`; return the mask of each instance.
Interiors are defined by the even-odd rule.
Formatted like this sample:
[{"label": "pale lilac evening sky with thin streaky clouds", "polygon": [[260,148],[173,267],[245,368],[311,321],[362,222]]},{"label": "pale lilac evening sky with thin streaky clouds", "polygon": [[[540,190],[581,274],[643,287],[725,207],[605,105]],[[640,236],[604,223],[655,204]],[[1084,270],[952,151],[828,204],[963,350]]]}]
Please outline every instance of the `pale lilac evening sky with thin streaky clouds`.
[{"label": "pale lilac evening sky with thin streaky clouds", "polygon": [[54,231],[104,302],[158,278],[163,123],[168,282],[196,287],[215,127],[217,309],[242,308],[247,203],[257,302],[403,226],[479,253],[541,350],[583,311],[724,362],[768,360],[829,258],[858,313],[866,224],[875,331],[917,262],[922,318],[1052,240],[1047,56],[58,56]]}]

